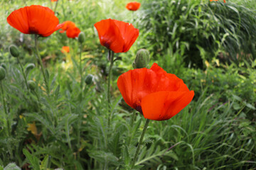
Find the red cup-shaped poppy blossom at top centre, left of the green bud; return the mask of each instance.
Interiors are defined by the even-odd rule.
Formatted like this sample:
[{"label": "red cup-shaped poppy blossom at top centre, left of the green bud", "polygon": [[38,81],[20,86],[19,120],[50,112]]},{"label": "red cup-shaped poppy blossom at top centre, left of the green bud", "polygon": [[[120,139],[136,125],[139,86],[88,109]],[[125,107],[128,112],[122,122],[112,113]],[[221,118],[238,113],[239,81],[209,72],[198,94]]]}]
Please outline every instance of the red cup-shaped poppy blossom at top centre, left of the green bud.
[{"label": "red cup-shaped poppy blossom at top centre, left of the green bud", "polygon": [[100,44],[113,52],[127,52],[139,36],[139,30],[131,23],[112,19],[95,23]]}]

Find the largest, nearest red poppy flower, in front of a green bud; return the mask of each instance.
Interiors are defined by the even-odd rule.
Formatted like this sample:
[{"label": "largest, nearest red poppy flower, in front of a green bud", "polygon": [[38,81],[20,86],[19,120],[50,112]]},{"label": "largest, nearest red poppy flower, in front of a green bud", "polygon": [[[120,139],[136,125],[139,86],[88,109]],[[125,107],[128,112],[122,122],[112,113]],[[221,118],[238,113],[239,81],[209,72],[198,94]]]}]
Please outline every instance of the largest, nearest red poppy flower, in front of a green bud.
[{"label": "largest, nearest red poppy flower, in front of a green bud", "polygon": [[124,101],[151,120],[168,120],[192,101],[182,79],[168,74],[156,63],[150,69],[133,69],[122,74],[117,86]]}]

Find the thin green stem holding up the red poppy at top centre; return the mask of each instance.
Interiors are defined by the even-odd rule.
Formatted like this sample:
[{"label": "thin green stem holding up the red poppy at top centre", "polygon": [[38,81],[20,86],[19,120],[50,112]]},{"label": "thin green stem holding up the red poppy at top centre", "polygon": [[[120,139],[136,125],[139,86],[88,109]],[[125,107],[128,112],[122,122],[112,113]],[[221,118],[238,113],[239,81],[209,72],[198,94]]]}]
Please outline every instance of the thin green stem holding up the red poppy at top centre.
[{"label": "thin green stem holding up the red poppy at top centre", "polygon": [[110,117],[111,117],[111,103],[110,103],[110,81],[112,79],[112,67],[114,64],[114,52],[112,50],[109,50],[108,54],[109,60],[110,60],[110,70],[109,70],[109,77],[107,81],[107,112],[108,112],[108,120],[107,125],[110,126]]}]

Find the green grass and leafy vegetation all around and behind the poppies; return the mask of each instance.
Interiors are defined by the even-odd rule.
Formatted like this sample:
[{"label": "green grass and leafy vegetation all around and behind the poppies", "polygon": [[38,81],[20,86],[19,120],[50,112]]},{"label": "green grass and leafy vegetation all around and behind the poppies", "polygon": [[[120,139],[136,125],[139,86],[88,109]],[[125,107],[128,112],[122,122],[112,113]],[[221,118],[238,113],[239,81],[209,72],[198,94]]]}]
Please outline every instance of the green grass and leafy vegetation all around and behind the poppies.
[{"label": "green grass and leafy vegetation all around and behind the poppies", "polygon": [[[93,84],[80,90],[78,41],[58,31],[39,38],[48,69],[51,95],[33,55],[33,38],[6,22],[11,11],[26,5],[55,6],[43,0],[0,2],[0,64],[6,67],[4,93],[9,115],[0,104],[0,169],[130,169],[144,118],[130,109],[116,86],[132,69],[137,50],[151,53],[167,72],[195,91],[193,101],[166,121],[151,121],[136,169],[256,169],[256,5],[255,0],[146,0],[139,11],[129,1],[59,0],[60,23],[73,21],[85,32],[84,77]],[[112,124],[107,126],[107,50],[94,23],[113,18],[139,28],[129,52],[117,54],[112,82]],[[28,80],[8,47],[18,46]],[[70,46],[68,54],[61,47]],[[2,97],[2,96],[1,96]],[[134,121],[132,119],[134,118]],[[10,135],[6,125],[10,123]],[[14,162],[15,164],[9,164]]]}]

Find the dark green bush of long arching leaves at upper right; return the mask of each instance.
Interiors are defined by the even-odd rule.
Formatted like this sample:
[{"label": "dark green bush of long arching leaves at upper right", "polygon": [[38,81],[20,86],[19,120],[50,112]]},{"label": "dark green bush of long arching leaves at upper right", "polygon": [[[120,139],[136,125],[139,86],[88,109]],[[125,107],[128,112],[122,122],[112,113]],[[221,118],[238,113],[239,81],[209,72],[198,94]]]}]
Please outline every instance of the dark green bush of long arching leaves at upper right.
[{"label": "dark green bush of long arching leaves at upper right", "polygon": [[[140,28],[161,61],[166,50],[178,53],[186,64],[203,67],[204,60],[221,57],[238,62],[237,54],[256,57],[256,12],[228,1],[152,1],[140,13]],[[169,62],[171,59],[169,59]]]}]

